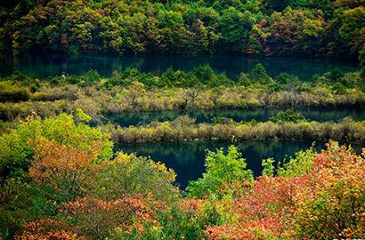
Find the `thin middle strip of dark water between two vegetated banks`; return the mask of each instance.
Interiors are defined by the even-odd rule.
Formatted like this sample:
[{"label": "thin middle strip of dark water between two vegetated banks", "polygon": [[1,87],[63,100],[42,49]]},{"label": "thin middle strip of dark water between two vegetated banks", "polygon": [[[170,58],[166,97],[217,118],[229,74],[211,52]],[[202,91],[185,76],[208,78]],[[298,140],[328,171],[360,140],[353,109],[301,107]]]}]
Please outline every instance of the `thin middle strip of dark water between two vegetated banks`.
[{"label": "thin middle strip of dark water between two vegetated banks", "polygon": [[[253,119],[259,122],[268,121],[269,117],[276,116],[279,111],[284,111],[286,108],[252,108],[252,109],[192,109],[189,111],[171,111],[160,113],[129,113],[129,114],[114,114],[106,115],[106,119],[111,123],[118,124],[122,127],[129,125],[150,124],[157,120],[159,122],[172,121],[177,116],[188,114],[196,118],[196,124],[212,123],[212,118],[216,116],[224,116],[232,118],[234,121],[249,122]],[[365,120],[365,111],[363,108],[296,108],[296,112],[303,114],[305,119],[328,122],[351,116],[355,121]]]}]

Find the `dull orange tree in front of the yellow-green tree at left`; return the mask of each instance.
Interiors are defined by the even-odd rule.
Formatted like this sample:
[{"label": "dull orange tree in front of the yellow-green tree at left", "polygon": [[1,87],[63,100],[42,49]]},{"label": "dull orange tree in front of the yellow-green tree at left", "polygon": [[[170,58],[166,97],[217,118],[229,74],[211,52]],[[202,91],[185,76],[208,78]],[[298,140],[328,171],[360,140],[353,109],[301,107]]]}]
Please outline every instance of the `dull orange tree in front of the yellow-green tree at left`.
[{"label": "dull orange tree in front of the yellow-green tree at left", "polygon": [[43,137],[30,140],[35,149],[29,175],[61,192],[66,200],[75,200],[90,179],[98,154],[98,142],[90,150],[67,147]]}]

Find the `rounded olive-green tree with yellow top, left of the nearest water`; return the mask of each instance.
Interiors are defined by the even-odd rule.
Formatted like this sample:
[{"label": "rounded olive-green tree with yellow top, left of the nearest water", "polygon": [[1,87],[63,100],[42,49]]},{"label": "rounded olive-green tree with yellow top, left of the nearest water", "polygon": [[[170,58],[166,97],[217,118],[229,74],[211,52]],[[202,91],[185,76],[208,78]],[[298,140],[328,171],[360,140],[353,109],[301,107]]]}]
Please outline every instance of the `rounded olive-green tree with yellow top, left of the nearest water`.
[{"label": "rounded olive-green tree with yellow top, left of the nearest water", "polygon": [[165,164],[118,152],[113,160],[99,169],[92,192],[93,196],[105,201],[115,201],[120,196],[153,196],[170,201],[178,196],[174,178],[174,171],[167,169]]}]

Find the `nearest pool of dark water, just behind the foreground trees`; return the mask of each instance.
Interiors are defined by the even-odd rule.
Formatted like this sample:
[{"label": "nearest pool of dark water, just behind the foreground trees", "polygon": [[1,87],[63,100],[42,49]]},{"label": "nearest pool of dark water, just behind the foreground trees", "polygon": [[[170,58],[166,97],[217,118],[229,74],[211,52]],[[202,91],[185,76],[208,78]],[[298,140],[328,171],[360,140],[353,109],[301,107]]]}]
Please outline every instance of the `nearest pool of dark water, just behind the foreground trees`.
[{"label": "nearest pool of dark water, just behind the foreground trees", "polygon": [[[123,150],[126,153],[136,153],[137,156],[150,156],[156,162],[166,164],[174,169],[177,174],[176,181],[184,189],[190,180],[198,180],[205,172],[205,149],[215,150],[223,148],[224,151],[231,142],[221,141],[197,141],[181,143],[154,143],[142,145],[117,145],[115,150]],[[235,143],[242,157],[247,161],[247,168],[251,169],[255,176],[263,171],[262,159],[273,157],[276,163],[300,150],[310,148],[312,142],[307,141],[238,141]],[[325,148],[324,144],[317,143],[315,148]]]}]

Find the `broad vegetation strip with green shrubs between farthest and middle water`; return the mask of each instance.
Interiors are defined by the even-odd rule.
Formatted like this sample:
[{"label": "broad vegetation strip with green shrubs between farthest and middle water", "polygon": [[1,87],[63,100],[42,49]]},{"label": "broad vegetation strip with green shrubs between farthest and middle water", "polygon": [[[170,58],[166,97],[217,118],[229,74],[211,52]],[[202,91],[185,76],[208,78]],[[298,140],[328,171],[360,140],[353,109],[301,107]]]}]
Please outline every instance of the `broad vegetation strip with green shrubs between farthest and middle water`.
[{"label": "broad vegetation strip with green shrubs between farthest and middle water", "polygon": [[160,77],[126,69],[110,78],[91,70],[39,80],[15,72],[0,79],[0,129],[5,132],[33,113],[56,116],[77,108],[98,121],[103,114],[190,108],[362,107],[364,83],[365,70],[343,76],[335,69],[301,82],[285,73],[272,79],[261,64],[237,82],[209,66],[189,73],[169,68]]}]

